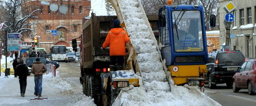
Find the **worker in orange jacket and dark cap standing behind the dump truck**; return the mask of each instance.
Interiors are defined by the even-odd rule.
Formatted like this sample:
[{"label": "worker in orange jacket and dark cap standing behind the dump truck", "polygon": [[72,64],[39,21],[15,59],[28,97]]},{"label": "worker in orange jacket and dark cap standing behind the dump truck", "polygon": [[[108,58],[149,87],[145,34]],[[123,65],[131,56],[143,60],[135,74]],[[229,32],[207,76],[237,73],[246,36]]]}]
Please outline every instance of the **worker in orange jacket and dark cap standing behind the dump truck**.
[{"label": "worker in orange jacket and dark cap standing behind the dump truck", "polygon": [[110,71],[123,69],[125,43],[130,41],[126,31],[120,26],[118,19],[114,20],[114,27],[108,32],[102,48],[109,47],[110,49]]}]

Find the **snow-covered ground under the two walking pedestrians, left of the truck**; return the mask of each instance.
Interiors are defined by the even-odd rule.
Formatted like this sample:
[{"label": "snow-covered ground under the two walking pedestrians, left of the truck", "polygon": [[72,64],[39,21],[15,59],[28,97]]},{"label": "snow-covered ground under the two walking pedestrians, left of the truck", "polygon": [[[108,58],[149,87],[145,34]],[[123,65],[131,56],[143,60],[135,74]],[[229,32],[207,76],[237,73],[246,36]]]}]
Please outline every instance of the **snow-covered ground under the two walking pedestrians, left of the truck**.
[{"label": "snow-covered ground under the two walking pedestrians, left of the truck", "polygon": [[13,75],[4,78],[4,73],[1,73],[0,106],[96,106],[93,99],[82,94],[78,76],[80,73],[76,70],[77,67],[80,69],[78,65],[79,63],[61,63],[57,70],[60,70],[59,73],[63,77],[59,74],[57,77],[50,74],[43,76],[42,98],[48,98],[45,100],[30,100],[37,98],[34,95],[33,75],[27,78],[25,97],[21,97],[18,78],[14,78]]}]

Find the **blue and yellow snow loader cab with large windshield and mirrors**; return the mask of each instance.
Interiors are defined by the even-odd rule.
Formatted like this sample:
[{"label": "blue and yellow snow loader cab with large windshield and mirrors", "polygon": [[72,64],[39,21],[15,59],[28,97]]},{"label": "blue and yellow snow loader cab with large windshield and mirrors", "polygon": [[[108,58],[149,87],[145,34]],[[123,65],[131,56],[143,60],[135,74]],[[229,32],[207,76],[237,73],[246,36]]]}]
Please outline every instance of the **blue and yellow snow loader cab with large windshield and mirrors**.
[{"label": "blue and yellow snow loader cab with large windshield and mirrors", "polygon": [[[203,7],[164,6],[158,18],[162,58],[174,83],[204,86],[208,53]],[[215,21],[215,16],[211,16],[210,25],[215,26]]]}]

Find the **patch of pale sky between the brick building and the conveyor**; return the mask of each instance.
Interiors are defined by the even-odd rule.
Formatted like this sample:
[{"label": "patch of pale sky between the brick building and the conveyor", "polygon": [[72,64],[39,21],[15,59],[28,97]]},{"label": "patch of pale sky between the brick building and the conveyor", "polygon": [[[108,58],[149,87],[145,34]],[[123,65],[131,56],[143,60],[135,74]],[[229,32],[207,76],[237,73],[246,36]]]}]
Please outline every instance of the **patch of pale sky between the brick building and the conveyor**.
[{"label": "patch of pale sky between the brick building and the conveyor", "polygon": [[91,0],[91,7],[90,16],[92,11],[96,16],[107,16],[105,0]]}]

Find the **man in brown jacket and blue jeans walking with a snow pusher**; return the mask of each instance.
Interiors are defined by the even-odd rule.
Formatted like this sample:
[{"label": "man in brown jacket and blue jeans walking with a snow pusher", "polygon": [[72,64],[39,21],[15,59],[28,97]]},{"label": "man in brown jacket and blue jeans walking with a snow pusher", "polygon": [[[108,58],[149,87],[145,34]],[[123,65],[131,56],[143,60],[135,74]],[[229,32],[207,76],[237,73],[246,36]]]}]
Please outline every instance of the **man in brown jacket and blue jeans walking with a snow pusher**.
[{"label": "man in brown jacket and blue jeans walking with a snow pusher", "polygon": [[[35,92],[36,96],[41,97],[42,95],[42,80],[43,80],[43,73],[47,71],[44,64],[40,61],[39,58],[36,58],[36,62],[33,63],[31,73],[34,74],[34,82],[35,82]],[[38,88],[39,87],[39,88]]]}]

